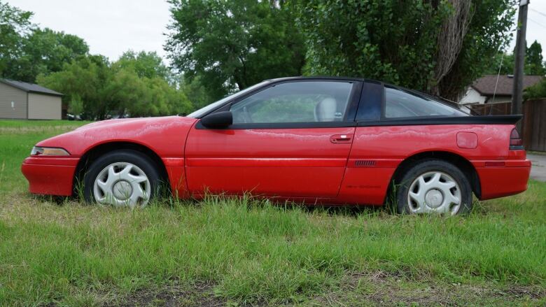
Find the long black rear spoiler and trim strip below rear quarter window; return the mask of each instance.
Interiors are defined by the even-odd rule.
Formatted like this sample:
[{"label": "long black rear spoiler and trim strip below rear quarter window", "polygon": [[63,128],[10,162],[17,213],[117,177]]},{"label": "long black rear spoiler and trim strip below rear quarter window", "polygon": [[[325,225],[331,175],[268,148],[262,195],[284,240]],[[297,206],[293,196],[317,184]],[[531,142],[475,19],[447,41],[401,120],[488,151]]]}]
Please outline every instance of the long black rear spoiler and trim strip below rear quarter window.
[{"label": "long black rear spoiler and trim strip below rear quarter window", "polygon": [[358,122],[358,127],[374,126],[415,126],[426,124],[516,124],[523,115],[479,115],[457,117],[421,117],[406,119],[385,119],[376,122]]}]

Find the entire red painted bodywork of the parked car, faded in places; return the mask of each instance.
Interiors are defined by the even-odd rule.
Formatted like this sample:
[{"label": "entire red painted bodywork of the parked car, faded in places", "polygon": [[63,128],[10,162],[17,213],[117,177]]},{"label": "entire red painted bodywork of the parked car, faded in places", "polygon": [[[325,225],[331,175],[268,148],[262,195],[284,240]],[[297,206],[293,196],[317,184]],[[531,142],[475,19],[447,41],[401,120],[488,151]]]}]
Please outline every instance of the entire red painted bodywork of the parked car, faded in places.
[{"label": "entire red painted bodywork of the parked car, faded in places", "polygon": [[196,121],[155,117],[89,124],[38,143],[64,148],[70,157],[31,157],[22,172],[33,193],[69,195],[80,157],[97,145],[130,142],[162,159],[179,197],[251,192],[306,204],[381,205],[400,163],[423,152],[468,160],[482,199],[526,190],[531,169],[524,150],[509,150],[511,124],[209,130],[196,129]]}]

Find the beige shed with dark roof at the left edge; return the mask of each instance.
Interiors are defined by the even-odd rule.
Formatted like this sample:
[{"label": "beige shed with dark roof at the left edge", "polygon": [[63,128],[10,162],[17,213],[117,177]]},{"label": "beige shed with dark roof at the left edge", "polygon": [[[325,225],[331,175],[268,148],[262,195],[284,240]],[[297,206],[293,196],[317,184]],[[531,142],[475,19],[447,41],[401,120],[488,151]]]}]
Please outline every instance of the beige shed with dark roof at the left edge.
[{"label": "beige shed with dark roof at the left edge", "polygon": [[62,94],[40,85],[0,79],[0,118],[60,120]]}]

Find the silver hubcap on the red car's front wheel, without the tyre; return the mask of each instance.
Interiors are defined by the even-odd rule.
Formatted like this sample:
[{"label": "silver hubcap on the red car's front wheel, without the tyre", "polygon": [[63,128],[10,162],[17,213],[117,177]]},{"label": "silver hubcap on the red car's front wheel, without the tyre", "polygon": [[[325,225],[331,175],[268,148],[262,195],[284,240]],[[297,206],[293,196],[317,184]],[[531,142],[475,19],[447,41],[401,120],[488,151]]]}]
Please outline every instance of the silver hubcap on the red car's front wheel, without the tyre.
[{"label": "silver hubcap on the red car's front wheel, without the tyre", "polygon": [[146,206],[151,185],[139,166],[116,162],[106,166],[94,180],[94,199],[99,204],[114,206]]}]

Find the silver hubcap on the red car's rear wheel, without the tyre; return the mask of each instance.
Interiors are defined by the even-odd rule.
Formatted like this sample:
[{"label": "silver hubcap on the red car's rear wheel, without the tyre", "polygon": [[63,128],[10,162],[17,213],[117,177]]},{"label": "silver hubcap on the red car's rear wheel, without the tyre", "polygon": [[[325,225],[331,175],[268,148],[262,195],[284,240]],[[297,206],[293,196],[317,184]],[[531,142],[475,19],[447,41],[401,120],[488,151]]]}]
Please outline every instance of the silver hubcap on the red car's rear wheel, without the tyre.
[{"label": "silver hubcap on the red car's rear wheel, without the tyre", "polygon": [[423,173],[409,185],[407,205],[412,213],[449,213],[461,208],[461,189],[447,173]]}]

